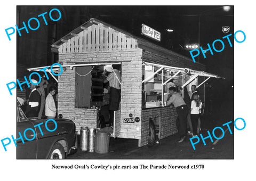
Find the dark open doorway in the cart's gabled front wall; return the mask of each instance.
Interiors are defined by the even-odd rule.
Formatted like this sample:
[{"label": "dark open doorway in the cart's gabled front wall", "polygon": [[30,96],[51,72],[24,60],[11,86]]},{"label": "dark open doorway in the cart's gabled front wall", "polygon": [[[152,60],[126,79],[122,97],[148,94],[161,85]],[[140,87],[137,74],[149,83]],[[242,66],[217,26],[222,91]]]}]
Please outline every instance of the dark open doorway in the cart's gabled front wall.
[{"label": "dark open doorway in the cart's gabled front wall", "polygon": [[[118,69],[114,70],[113,67],[118,67]],[[114,111],[114,125],[110,127],[109,101],[113,97],[110,97],[109,82],[105,82],[105,80],[109,76],[115,78],[117,76],[114,73],[115,71],[119,71],[121,74],[121,64],[98,64],[76,67],[75,75],[76,108],[96,109],[97,129],[111,133],[113,137],[117,137],[120,134],[120,105],[118,110]],[[120,83],[116,82],[116,84]]]}]

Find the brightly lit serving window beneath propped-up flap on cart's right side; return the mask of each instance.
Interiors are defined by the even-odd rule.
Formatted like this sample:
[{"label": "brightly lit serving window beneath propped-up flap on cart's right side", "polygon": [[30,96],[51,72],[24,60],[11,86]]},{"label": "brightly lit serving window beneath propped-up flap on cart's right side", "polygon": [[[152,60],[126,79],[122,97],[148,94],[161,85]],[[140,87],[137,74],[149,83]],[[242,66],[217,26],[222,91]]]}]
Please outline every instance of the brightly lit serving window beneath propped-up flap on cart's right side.
[{"label": "brightly lit serving window beneath propped-up flap on cart's right side", "polygon": [[[198,76],[206,77],[199,85]],[[191,95],[191,85],[197,85],[199,88],[211,77],[222,78],[204,71],[144,62],[142,64],[142,108],[165,106],[169,95],[168,89],[173,83],[182,95],[183,87],[186,87]]]}]

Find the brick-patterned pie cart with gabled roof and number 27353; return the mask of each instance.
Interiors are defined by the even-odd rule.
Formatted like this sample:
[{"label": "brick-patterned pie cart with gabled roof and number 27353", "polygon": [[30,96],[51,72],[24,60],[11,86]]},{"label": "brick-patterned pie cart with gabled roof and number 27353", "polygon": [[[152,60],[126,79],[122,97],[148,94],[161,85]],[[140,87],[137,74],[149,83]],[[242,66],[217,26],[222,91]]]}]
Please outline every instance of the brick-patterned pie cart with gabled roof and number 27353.
[{"label": "brick-patterned pie cart with gabled roof and number 27353", "polygon": [[197,84],[204,97],[204,77],[217,78],[203,72],[202,64],[97,19],[71,31],[52,48],[64,69],[58,77],[58,112],[75,122],[78,134],[81,126],[98,127],[103,87],[97,73],[103,65],[121,64],[121,103],[112,136],[138,139],[139,147],[154,139],[154,129],[159,139],[177,133],[177,112],[164,106],[171,79],[188,89]]}]

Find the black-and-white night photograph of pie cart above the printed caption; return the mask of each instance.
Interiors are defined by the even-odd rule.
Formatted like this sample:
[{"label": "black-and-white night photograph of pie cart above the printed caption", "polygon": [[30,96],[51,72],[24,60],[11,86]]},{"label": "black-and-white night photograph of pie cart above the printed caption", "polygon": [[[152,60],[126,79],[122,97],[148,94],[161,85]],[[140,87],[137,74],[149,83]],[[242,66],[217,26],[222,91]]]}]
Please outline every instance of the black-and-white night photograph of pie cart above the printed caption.
[{"label": "black-and-white night photograph of pie cart above the printed caption", "polygon": [[33,14],[17,131],[63,126],[36,127],[18,159],[234,159],[234,40],[212,44],[234,34],[234,6],[17,6],[18,26]]}]

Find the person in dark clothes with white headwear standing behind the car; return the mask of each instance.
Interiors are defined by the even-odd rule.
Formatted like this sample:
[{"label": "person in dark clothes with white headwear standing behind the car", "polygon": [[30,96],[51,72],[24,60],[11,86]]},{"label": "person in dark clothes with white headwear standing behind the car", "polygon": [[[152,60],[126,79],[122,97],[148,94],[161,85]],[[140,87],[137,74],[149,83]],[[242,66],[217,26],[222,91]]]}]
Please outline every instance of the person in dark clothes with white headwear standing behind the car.
[{"label": "person in dark clothes with white headwear standing behind the car", "polygon": [[[31,82],[37,84],[38,81],[31,79]],[[39,107],[40,107],[40,94],[38,93],[36,86],[34,84],[29,84],[31,92],[28,98],[28,104],[26,108],[26,113],[28,118],[38,117]]]}]

